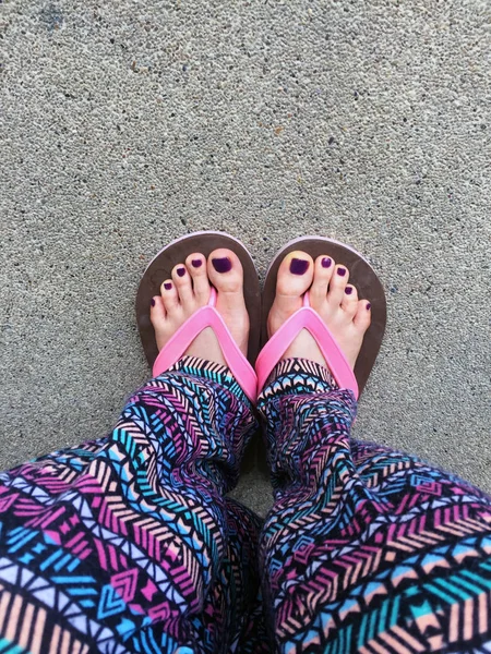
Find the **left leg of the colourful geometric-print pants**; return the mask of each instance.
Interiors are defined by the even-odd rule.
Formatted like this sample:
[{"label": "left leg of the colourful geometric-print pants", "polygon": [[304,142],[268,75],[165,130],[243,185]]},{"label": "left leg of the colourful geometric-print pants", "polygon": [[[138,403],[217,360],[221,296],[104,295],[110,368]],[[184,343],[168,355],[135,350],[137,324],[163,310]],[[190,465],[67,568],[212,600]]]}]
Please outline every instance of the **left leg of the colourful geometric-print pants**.
[{"label": "left leg of the colourful geometric-print pants", "polygon": [[0,652],[268,652],[261,521],[225,493],[256,427],[227,368],[185,358],[106,438],[0,475]]}]

